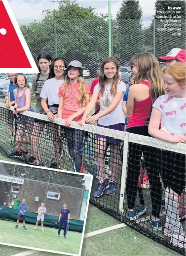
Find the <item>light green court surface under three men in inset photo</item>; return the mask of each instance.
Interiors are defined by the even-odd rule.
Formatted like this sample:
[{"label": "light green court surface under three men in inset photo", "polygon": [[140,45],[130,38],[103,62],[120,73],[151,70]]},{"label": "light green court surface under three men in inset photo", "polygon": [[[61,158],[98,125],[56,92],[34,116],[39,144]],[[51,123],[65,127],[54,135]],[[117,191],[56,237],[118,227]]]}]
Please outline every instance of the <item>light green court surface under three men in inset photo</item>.
[{"label": "light green court surface under three men in inset photo", "polygon": [[34,225],[27,224],[27,230],[23,230],[22,223],[18,229],[15,229],[15,222],[0,220],[0,227],[3,233],[0,233],[0,242],[19,246],[28,246],[32,248],[63,252],[69,254],[79,254],[81,233],[69,231],[67,238],[63,238],[63,230],[58,238],[58,230],[55,228],[44,227],[44,232],[38,226],[33,230]]}]

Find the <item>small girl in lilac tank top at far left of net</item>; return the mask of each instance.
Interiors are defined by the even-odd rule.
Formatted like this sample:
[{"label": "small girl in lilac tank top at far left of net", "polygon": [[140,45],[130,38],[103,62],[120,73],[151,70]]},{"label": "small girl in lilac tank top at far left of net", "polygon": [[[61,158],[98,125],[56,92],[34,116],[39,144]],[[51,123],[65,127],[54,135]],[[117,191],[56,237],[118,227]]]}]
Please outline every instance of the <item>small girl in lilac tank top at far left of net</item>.
[{"label": "small girl in lilac tank top at far left of net", "polygon": [[[11,157],[21,157],[28,154],[26,144],[31,144],[30,136],[32,134],[32,121],[26,115],[21,115],[21,112],[30,110],[31,108],[31,91],[27,88],[27,78],[23,73],[17,73],[15,76],[15,84],[18,86],[13,91],[15,98],[15,105],[13,113],[16,119],[16,151],[10,154]],[[28,136],[27,136],[28,134]]]}]

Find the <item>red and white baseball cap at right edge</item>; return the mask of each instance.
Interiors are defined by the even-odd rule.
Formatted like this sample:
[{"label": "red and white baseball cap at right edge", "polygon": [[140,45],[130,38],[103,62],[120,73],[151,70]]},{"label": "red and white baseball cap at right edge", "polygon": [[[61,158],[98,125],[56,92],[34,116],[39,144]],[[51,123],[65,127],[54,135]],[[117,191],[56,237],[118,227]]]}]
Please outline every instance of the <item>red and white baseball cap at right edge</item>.
[{"label": "red and white baseball cap at right edge", "polygon": [[171,59],[177,59],[181,62],[186,62],[186,50],[180,48],[174,48],[166,56],[159,57],[159,61],[166,61]]}]

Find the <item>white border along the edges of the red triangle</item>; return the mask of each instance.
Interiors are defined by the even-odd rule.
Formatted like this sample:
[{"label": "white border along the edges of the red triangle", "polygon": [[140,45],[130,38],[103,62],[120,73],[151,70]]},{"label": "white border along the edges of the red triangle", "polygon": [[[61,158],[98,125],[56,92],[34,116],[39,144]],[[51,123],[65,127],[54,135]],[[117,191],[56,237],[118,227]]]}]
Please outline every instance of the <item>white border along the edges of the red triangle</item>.
[{"label": "white border along the edges of the red triangle", "polygon": [[8,1],[7,0],[0,0],[0,1],[2,1],[2,3],[4,4],[4,7],[5,7],[5,9],[8,13],[8,16],[9,16],[9,18],[10,18],[10,20],[11,20],[13,26],[14,26],[15,32],[17,33],[17,36],[18,36],[18,38],[20,40],[20,43],[23,47],[23,50],[25,51],[25,54],[27,55],[27,58],[28,58],[28,60],[31,64],[31,68],[13,68],[13,67],[12,68],[7,68],[6,67],[6,68],[0,68],[0,72],[1,73],[7,73],[7,72],[9,72],[9,73],[11,73],[11,72],[15,72],[15,73],[19,73],[19,72],[21,72],[21,73],[38,73],[39,71],[38,71],[37,65],[34,61],[34,58],[31,54],[29,48],[28,48],[28,45],[27,45],[27,43],[24,39],[24,36],[23,36],[23,34],[22,34],[22,32],[19,28],[19,25],[18,25],[18,23],[17,23],[17,21],[14,17],[14,14],[13,14],[11,8],[10,8],[10,5],[9,5]]}]

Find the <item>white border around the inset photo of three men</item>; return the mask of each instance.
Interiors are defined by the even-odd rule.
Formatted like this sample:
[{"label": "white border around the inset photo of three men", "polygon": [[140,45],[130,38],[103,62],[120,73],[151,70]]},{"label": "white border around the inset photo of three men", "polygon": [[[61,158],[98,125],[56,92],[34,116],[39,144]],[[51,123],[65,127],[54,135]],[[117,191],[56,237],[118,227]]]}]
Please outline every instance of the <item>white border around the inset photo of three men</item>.
[{"label": "white border around the inset photo of three men", "polygon": [[57,251],[51,251],[51,250],[45,250],[45,249],[39,249],[39,248],[33,248],[33,247],[27,247],[27,246],[20,246],[20,245],[14,245],[14,244],[6,244],[6,243],[1,243],[0,242],[0,245],[7,245],[7,246],[18,247],[18,248],[26,248],[26,249],[36,250],[36,251],[40,251],[40,252],[48,252],[48,253],[55,253],[55,254],[61,254],[61,255],[80,256],[81,255],[81,250],[82,250],[83,238],[84,238],[84,231],[85,231],[85,225],[86,225],[86,219],[87,219],[87,213],[88,213],[88,206],[89,206],[89,201],[90,201],[93,175],[85,174],[85,173],[78,173],[78,172],[73,172],[73,171],[59,170],[59,169],[51,169],[51,168],[48,168],[48,167],[43,168],[41,166],[29,165],[29,164],[23,164],[23,163],[16,163],[16,162],[9,162],[9,161],[4,161],[4,160],[0,160],[0,162],[16,164],[16,165],[21,165],[21,166],[27,166],[29,168],[45,169],[45,170],[50,170],[50,171],[59,171],[59,172],[64,172],[64,173],[69,173],[69,174],[76,174],[76,175],[80,175],[80,176],[83,176],[83,177],[87,176],[87,177],[91,178],[90,179],[89,192],[88,192],[88,199],[87,199],[88,204],[87,204],[86,212],[85,212],[85,218],[84,218],[84,225],[83,225],[83,231],[82,231],[82,236],[81,236],[79,254],[68,254],[68,253],[63,253],[63,252],[57,252]]}]

